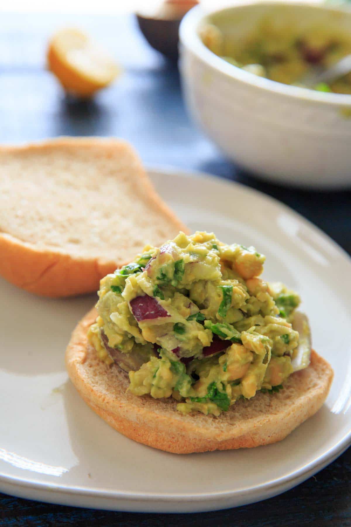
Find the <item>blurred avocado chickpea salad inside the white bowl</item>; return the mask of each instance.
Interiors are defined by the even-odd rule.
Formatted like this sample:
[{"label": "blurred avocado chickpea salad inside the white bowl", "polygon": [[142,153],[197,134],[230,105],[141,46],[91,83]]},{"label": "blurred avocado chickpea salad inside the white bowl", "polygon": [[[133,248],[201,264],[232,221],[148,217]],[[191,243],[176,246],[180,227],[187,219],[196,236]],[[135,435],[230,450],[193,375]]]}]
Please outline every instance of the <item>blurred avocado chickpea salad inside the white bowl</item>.
[{"label": "blurred avocado chickpea salad inside the white bowl", "polygon": [[[282,23],[279,16],[267,16],[257,21],[251,31],[236,37],[232,30],[222,31],[216,24],[206,23],[200,37],[206,47],[226,62],[259,77],[309,87],[320,92],[351,94],[351,74],[337,77],[330,84],[318,82],[305,86],[309,74],[317,68],[327,69],[351,53],[351,38],[341,28],[336,31],[328,26],[304,27]],[[240,31],[237,32],[241,35]]]}]

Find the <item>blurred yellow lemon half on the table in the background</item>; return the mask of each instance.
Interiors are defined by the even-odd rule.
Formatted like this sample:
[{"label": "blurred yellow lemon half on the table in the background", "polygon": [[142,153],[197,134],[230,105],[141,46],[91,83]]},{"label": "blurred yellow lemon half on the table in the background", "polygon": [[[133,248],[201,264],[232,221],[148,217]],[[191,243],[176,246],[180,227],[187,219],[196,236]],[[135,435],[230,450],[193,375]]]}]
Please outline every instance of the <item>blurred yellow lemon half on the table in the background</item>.
[{"label": "blurred yellow lemon half on the table in the background", "polygon": [[47,61],[65,90],[88,97],[111,83],[118,66],[101,47],[76,29],[55,33],[48,46]]}]

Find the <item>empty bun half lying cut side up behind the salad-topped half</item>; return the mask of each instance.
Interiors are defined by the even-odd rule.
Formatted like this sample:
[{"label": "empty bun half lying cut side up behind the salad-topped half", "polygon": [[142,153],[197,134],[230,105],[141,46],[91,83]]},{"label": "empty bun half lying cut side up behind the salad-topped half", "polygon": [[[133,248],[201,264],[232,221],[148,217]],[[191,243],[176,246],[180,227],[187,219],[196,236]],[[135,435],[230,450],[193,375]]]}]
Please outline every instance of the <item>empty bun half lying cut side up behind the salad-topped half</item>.
[{"label": "empty bun half lying cut side up behind the salad-topped half", "polygon": [[96,291],[149,243],[186,227],[120,140],[0,147],[0,275],[38,295]]}]

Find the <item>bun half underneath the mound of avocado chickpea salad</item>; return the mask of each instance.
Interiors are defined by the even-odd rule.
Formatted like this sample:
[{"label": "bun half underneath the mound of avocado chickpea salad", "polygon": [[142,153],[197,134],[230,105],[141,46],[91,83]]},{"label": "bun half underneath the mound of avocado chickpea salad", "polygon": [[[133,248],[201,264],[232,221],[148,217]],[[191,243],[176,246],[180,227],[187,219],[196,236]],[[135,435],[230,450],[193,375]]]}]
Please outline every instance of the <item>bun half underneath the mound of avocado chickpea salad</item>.
[{"label": "bun half underneath the mound of avocado chickpea salad", "polygon": [[312,352],[308,368],[291,375],[274,395],[258,393],[240,400],[219,417],[180,414],[172,398],[137,397],[117,365],[96,357],[87,339],[93,309],[73,331],[66,367],[84,401],[125,436],[176,454],[267,445],[284,439],[323,405],[333,379],[330,365]]}]

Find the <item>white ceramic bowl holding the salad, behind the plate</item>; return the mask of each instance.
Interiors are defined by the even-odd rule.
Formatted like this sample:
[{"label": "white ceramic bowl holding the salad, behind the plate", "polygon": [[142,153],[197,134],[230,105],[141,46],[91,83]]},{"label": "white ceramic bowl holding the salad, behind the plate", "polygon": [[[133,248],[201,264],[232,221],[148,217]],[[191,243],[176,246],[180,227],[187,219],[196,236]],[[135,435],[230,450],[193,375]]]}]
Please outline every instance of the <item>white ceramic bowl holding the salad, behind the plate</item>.
[{"label": "white ceramic bowl holding the salad, behind the plate", "polygon": [[240,34],[274,14],[297,28],[351,31],[351,11],[318,4],[246,2],[205,13],[195,7],[180,25],[183,91],[190,113],[228,158],[256,175],[292,186],[351,186],[351,95],[322,93],[269,81],[208,50],[199,28],[233,24]]}]

